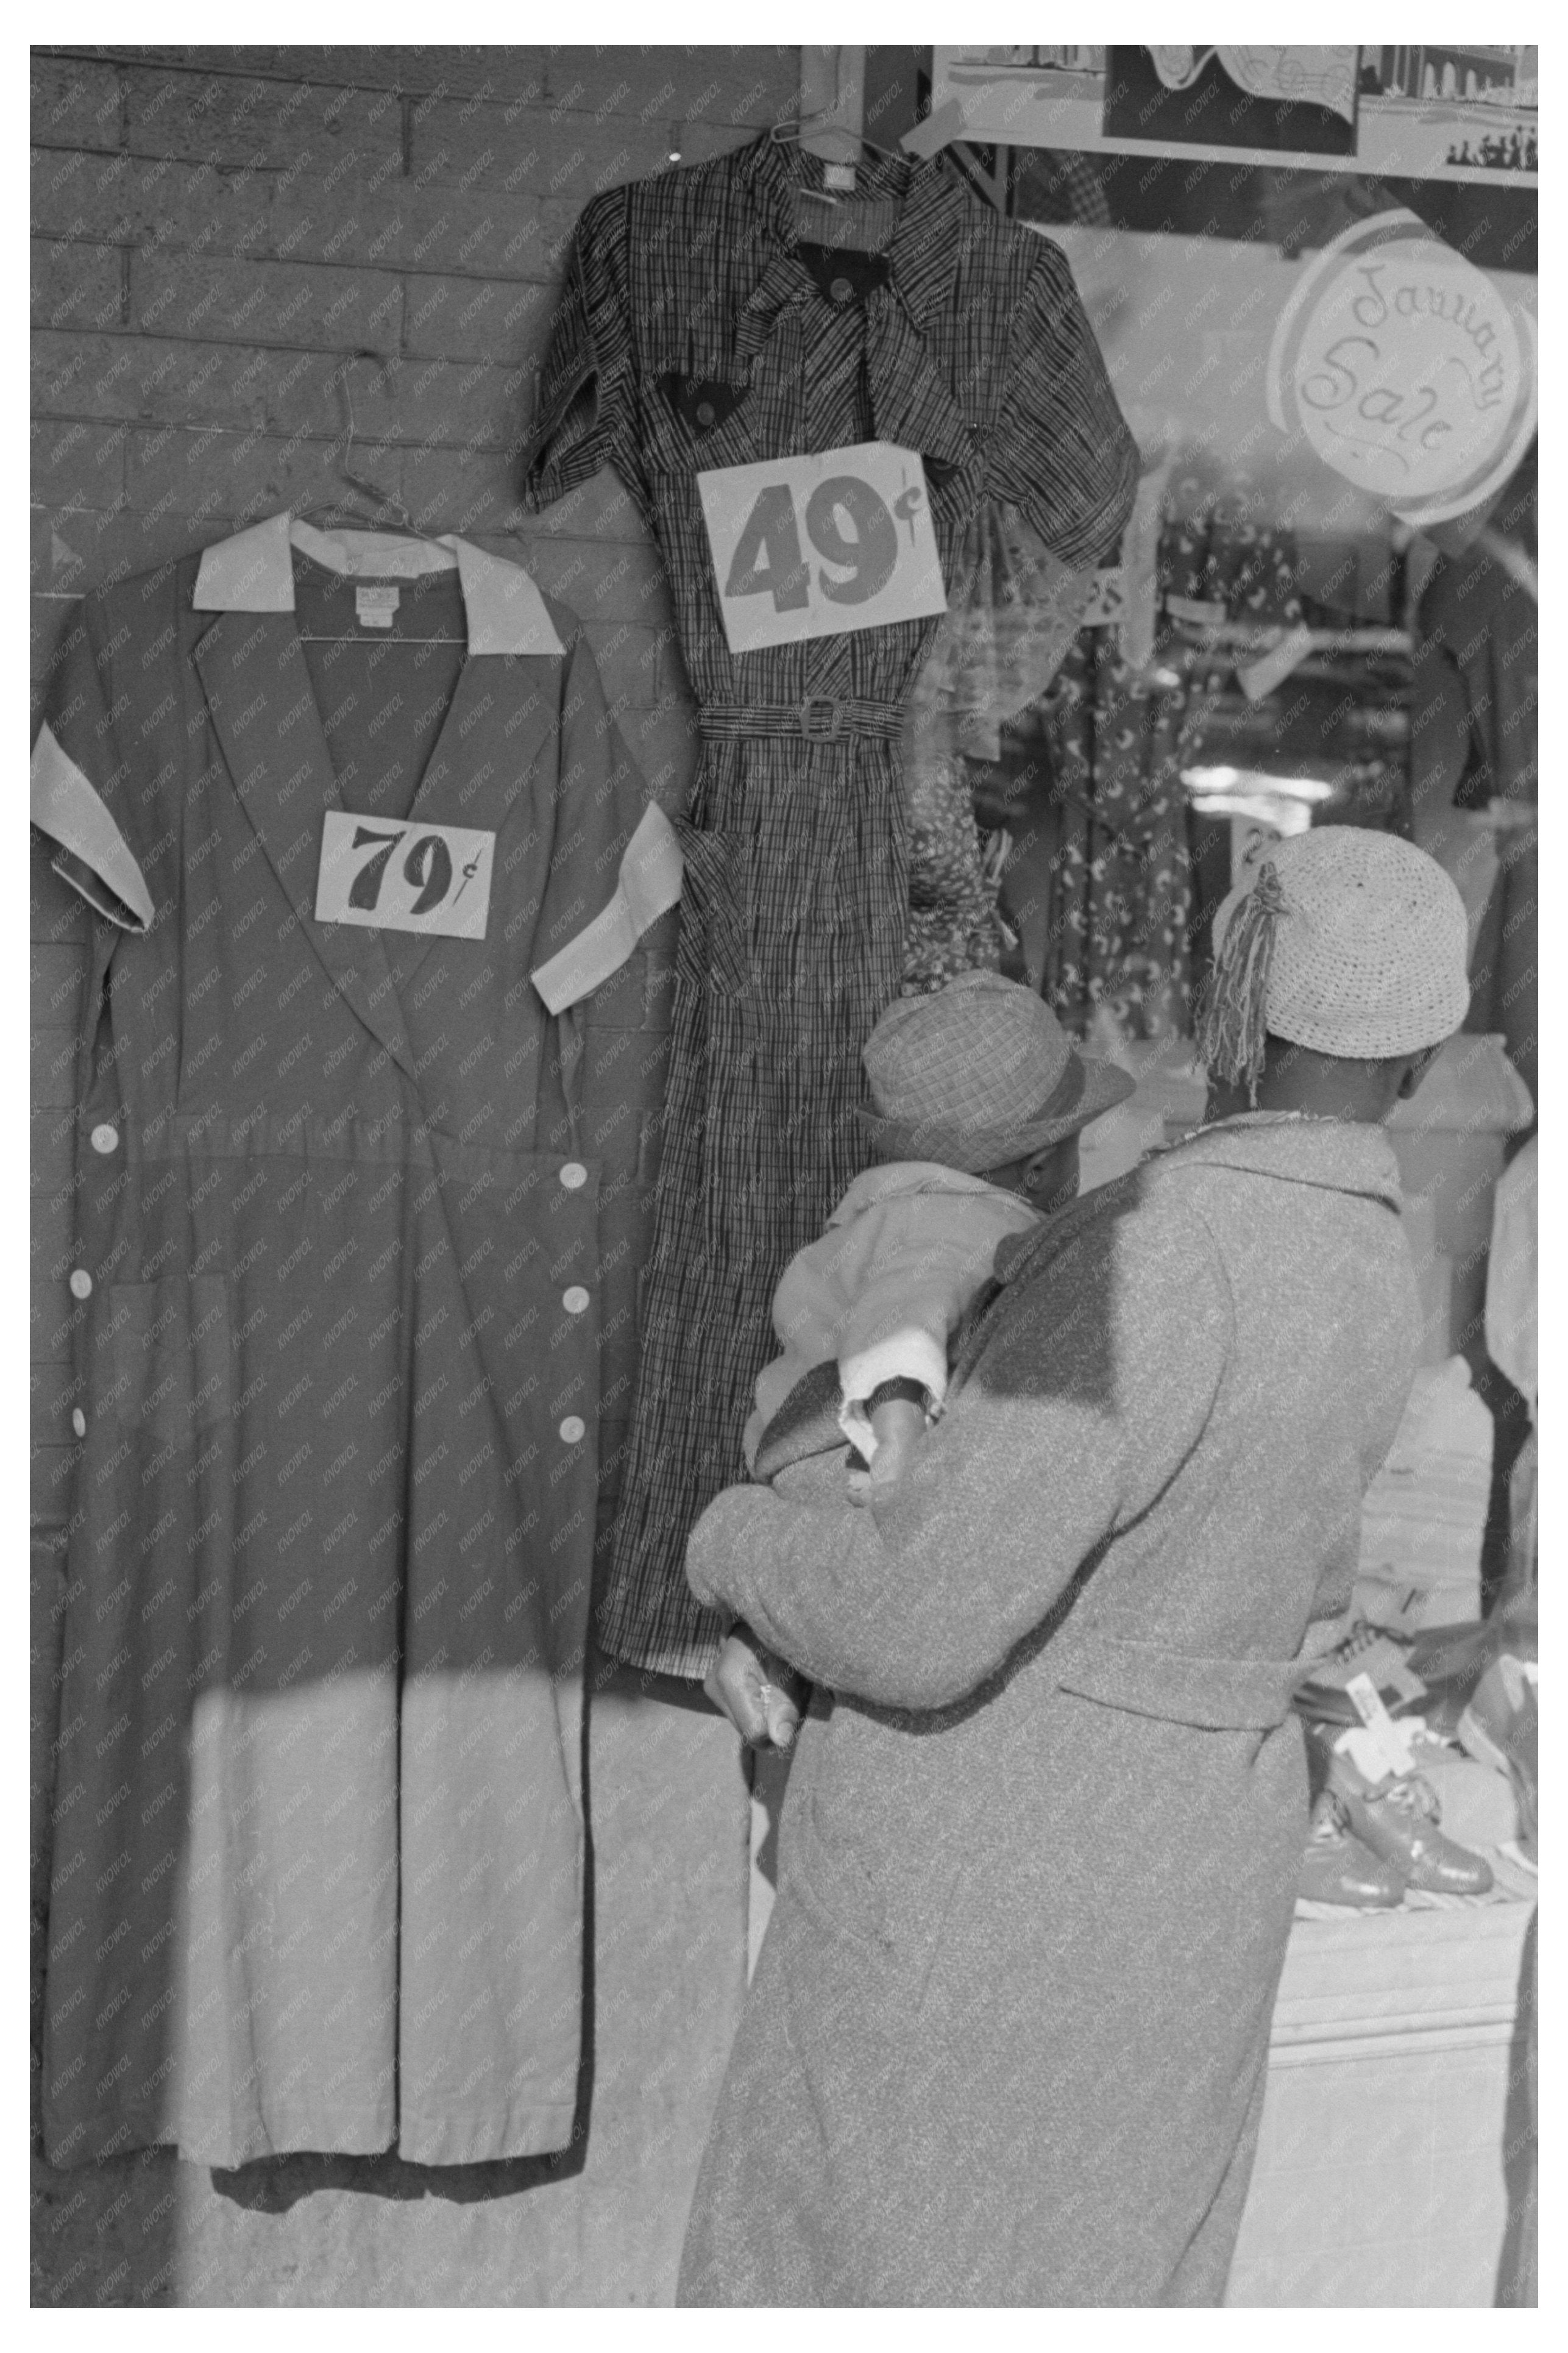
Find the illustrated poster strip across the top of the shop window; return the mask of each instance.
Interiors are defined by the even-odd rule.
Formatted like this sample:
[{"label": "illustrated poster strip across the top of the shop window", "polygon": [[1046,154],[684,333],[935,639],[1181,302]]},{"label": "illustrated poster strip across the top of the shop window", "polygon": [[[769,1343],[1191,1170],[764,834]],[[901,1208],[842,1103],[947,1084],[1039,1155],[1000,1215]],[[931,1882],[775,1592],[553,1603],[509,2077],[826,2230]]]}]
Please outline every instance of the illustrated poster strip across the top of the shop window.
[{"label": "illustrated poster strip across the top of the shop window", "polygon": [[938,47],[905,141],[1537,181],[1537,49],[1056,42]]}]

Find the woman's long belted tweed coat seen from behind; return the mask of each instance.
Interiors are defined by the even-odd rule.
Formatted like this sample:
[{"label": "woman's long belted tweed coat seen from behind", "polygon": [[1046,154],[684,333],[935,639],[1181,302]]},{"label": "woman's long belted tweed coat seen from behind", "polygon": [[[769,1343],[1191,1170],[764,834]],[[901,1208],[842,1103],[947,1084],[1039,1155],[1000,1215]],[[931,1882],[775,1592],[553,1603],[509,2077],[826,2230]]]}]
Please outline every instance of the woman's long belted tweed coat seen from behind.
[{"label": "woman's long belted tweed coat seen from behind", "polygon": [[[1410,1386],[1375,1127],[1251,1115],[1004,1242],[907,1478],[686,1572],[818,1685],[686,2304],[1218,2304],[1307,1786]],[[835,1694],[835,1697],[827,1697]]]}]

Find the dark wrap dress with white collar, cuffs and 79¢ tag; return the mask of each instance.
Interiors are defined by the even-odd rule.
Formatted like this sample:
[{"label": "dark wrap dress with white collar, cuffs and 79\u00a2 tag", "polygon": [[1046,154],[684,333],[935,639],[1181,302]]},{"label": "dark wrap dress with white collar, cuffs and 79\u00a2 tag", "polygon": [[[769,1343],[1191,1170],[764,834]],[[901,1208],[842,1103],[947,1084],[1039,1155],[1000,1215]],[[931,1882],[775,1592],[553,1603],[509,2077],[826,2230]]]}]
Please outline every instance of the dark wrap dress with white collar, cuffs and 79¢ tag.
[{"label": "dark wrap dress with white collar, cuffs and 79\u00a2 tag", "polygon": [[103,918],[49,2160],[562,2148],[635,1151],[576,1007],[672,833],[517,565],[289,515],[85,602],[33,819]]}]

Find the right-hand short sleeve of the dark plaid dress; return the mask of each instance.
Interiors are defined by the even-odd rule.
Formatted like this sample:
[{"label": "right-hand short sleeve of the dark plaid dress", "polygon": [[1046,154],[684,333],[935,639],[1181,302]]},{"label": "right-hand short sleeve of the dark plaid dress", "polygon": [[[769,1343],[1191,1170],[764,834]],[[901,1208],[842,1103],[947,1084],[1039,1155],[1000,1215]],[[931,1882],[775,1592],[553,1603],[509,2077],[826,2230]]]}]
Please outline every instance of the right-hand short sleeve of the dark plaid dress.
[{"label": "right-hand short sleeve of the dark plaid dress", "polygon": [[1067,565],[1110,562],[1133,513],[1138,445],[1067,259],[1046,238],[1009,336],[985,487]]}]

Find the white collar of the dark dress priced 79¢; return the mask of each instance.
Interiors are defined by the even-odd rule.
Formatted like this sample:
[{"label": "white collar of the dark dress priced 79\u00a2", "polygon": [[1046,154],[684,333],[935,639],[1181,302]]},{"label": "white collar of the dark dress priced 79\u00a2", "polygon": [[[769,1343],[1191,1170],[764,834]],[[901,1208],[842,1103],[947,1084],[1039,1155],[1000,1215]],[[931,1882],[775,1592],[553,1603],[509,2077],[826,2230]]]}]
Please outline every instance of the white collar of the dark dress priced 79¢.
[{"label": "white collar of the dark dress priced 79\u00a2", "polygon": [[195,612],[294,612],[294,548],[357,579],[416,579],[456,565],[470,654],[562,654],[545,600],[522,569],[456,532],[404,539],[393,532],[317,532],[287,511],[202,551]]}]

